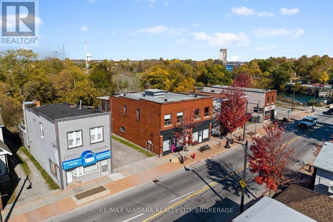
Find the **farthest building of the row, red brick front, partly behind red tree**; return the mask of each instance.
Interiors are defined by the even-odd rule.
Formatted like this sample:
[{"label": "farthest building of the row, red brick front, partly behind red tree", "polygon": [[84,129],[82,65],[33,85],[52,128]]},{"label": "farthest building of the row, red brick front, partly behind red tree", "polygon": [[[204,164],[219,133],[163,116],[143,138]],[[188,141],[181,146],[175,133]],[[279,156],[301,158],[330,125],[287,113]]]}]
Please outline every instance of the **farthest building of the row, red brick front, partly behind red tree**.
[{"label": "farthest building of the row, red brick front, partly behind red tree", "polygon": [[[204,92],[223,93],[223,90],[228,86],[205,86]],[[265,89],[252,89],[244,88],[245,95],[249,104],[247,105],[247,112],[253,113],[253,120],[257,119],[257,123],[263,123],[265,120],[275,119],[275,104],[277,97],[277,90]],[[250,104],[251,103],[251,104]]]}]

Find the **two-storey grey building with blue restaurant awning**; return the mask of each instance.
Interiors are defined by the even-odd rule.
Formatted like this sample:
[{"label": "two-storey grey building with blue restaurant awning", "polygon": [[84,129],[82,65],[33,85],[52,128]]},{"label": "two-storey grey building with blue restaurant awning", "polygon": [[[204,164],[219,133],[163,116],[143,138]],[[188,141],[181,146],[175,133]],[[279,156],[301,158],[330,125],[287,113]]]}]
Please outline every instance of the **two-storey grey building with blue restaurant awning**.
[{"label": "two-storey grey building with blue restaurant awning", "polygon": [[23,111],[25,147],[61,190],[112,173],[110,112],[68,103]]}]

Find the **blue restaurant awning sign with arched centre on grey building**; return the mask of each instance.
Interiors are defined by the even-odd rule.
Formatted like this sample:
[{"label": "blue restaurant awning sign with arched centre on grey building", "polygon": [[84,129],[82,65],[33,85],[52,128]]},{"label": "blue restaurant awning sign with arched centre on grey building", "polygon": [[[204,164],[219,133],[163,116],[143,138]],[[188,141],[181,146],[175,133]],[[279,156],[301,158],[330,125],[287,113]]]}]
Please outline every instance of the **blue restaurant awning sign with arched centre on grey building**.
[{"label": "blue restaurant awning sign with arched centre on grey building", "polygon": [[111,150],[106,150],[99,153],[94,153],[87,150],[81,154],[80,158],[70,159],[63,162],[63,169],[68,170],[79,166],[87,166],[95,164],[97,161],[111,157]]}]

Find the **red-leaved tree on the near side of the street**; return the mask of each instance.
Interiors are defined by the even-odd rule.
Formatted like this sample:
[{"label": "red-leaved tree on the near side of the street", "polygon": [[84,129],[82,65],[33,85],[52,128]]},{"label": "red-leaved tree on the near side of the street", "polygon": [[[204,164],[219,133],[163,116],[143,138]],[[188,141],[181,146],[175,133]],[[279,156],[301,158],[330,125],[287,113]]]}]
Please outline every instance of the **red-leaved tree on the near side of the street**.
[{"label": "red-leaved tree on the near side of the street", "polygon": [[256,183],[265,184],[271,193],[278,186],[295,183],[298,177],[292,170],[295,166],[294,149],[288,147],[282,137],[285,128],[277,122],[263,128],[266,133],[253,138],[250,147],[253,154],[248,155],[249,170],[259,174],[255,176]]}]

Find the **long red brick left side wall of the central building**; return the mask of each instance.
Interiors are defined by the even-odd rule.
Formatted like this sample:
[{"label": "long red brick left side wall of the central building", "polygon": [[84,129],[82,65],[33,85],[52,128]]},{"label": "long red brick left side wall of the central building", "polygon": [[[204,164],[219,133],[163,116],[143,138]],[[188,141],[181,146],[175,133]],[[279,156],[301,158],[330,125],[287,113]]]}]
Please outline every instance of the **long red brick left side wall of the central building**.
[{"label": "long red brick left side wall of the central building", "polygon": [[[148,149],[148,140],[152,142],[150,150],[160,154],[160,104],[147,100],[135,100],[124,97],[110,96],[112,109],[112,132],[130,140],[140,147]],[[127,113],[124,115],[124,106]],[[137,119],[137,109],[140,110],[140,119]],[[125,128],[125,132],[120,131]]]}]

